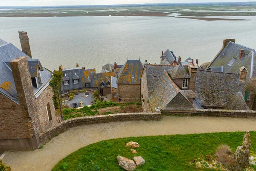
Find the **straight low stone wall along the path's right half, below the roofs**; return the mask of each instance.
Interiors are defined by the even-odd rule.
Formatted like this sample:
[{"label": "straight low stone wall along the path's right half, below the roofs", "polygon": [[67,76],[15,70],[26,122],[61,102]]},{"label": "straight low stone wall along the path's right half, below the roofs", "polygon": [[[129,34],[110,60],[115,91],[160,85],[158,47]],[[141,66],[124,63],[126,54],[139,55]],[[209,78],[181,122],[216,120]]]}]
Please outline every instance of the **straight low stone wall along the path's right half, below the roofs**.
[{"label": "straight low stone wall along the path's right half, below the roofs", "polygon": [[224,116],[224,117],[255,117],[255,110],[221,110],[221,109],[200,109],[200,110],[161,110],[163,115],[171,116]]}]

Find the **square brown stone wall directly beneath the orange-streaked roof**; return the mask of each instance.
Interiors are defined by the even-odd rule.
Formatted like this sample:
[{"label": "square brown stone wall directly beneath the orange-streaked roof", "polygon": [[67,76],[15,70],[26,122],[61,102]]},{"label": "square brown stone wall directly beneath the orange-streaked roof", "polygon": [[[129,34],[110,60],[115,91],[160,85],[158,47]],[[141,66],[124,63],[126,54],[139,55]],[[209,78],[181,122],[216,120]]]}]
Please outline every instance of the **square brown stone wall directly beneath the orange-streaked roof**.
[{"label": "square brown stone wall directly beneath the orange-streaked roof", "polygon": [[140,101],[140,84],[118,84],[121,101]]}]

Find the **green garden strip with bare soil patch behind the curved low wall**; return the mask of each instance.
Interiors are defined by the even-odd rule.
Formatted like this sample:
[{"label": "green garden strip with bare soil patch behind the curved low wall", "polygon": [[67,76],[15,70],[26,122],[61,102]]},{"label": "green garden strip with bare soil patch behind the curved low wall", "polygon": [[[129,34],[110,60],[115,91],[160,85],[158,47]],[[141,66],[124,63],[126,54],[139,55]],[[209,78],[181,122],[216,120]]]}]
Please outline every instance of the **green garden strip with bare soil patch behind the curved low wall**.
[{"label": "green garden strip with bare soil patch behind the curved low wall", "polygon": [[64,120],[82,116],[108,115],[113,113],[138,113],[143,112],[140,102],[114,103],[112,101],[97,101],[90,107],[84,106],[82,109],[63,109]]}]

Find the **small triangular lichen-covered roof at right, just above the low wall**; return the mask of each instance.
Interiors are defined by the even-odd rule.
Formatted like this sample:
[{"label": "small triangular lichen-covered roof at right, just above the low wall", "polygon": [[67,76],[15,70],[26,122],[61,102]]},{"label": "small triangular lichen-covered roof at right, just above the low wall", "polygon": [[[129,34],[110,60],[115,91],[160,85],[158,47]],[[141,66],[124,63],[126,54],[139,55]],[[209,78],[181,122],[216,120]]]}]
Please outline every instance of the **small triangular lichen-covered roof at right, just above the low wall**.
[{"label": "small triangular lichen-covered roof at right, just above the low wall", "polygon": [[233,96],[230,101],[226,102],[223,107],[227,110],[250,110],[246,102],[244,101],[244,96],[241,91],[236,93],[236,95]]}]

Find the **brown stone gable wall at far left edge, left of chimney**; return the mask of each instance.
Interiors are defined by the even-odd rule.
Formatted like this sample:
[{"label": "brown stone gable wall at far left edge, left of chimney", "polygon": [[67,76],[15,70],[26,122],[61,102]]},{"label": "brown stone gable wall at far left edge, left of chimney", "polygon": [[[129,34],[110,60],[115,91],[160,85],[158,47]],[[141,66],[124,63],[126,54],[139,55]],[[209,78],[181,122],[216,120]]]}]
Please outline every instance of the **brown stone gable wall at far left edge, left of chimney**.
[{"label": "brown stone gable wall at far left edge, left of chimney", "polygon": [[35,136],[28,110],[0,94],[0,139],[26,139]]}]

